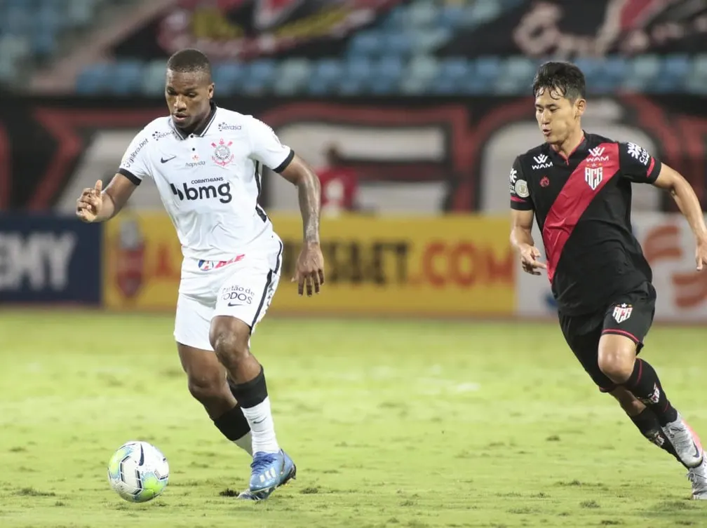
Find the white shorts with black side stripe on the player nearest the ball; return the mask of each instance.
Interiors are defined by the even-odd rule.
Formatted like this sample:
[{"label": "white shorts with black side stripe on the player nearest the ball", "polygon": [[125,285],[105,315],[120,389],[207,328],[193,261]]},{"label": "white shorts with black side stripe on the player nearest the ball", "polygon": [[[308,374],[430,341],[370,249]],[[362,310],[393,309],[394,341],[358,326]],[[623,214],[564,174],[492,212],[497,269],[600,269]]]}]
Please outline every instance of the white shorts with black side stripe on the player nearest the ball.
[{"label": "white shorts with black side stripe on the player nearest the ball", "polygon": [[282,242],[265,250],[247,250],[227,261],[184,259],[177,298],[177,343],[214,350],[211,318],[228,315],[245,322],[251,333],[267,312],[280,281]]}]

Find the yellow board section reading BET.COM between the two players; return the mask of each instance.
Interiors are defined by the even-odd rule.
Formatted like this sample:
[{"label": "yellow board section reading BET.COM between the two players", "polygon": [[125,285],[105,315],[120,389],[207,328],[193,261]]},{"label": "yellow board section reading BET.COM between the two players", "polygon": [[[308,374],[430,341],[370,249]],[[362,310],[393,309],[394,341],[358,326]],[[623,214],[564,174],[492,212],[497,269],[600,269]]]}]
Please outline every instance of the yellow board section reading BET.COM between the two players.
[{"label": "yellow board section reading BET.COM between the two players", "polygon": [[285,245],[272,313],[511,315],[515,258],[507,218],[322,218],[326,283],[300,298],[290,283],[302,240],[297,216],[272,217]]}]

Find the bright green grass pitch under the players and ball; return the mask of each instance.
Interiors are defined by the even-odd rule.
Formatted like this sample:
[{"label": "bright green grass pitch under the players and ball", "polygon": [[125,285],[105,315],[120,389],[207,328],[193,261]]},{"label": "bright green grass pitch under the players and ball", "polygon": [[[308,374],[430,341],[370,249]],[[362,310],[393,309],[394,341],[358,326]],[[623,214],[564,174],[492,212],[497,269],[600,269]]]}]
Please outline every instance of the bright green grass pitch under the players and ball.
[{"label": "bright green grass pitch under the players and ball", "polygon": [[[600,394],[554,324],[269,319],[265,365],[298,479],[264,503],[222,495],[249,460],[186,388],[173,317],[0,312],[0,527],[707,526],[685,471]],[[707,435],[707,331],[643,357]],[[168,457],[151,503],[110,490],[127,440]]]}]

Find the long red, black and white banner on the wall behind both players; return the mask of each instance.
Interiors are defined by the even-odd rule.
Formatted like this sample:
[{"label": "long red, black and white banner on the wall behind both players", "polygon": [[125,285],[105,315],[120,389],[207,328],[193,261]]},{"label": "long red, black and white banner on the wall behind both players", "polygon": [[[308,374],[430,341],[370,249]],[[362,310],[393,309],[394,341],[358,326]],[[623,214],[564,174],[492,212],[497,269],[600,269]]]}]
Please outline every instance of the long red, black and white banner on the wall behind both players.
[{"label": "long red, black and white banner on the wall behind both players", "polygon": [[[315,167],[335,144],[359,180],[436,184],[446,211],[504,211],[508,171],[542,141],[530,98],[217,100],[252,114]],[[66,209],[76,189],[109,180],[132,136],[165,115],[161,100],[0,102],[0,209]],[[634,141],[681,172],[707,205],[707,107],[686,95],[591,100],[584,127]],[[277,194],[264,205],[277,208]],[[665,195],[655,209],[673,210]]]}]

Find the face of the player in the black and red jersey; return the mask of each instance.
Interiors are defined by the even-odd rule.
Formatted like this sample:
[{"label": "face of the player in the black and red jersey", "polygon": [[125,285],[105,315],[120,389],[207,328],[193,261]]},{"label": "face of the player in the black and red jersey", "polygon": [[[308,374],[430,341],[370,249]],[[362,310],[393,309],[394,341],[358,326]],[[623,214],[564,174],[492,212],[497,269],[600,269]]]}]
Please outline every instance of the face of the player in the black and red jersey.
[{"label": "face of the player in the black and red jersey", "polygon": [[584,110],[584,100],[574,102],[557,90],[541,88],[535,97],[535,119],[552,145],[561,145],[580,127],[579,118]]}]

